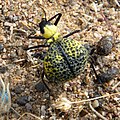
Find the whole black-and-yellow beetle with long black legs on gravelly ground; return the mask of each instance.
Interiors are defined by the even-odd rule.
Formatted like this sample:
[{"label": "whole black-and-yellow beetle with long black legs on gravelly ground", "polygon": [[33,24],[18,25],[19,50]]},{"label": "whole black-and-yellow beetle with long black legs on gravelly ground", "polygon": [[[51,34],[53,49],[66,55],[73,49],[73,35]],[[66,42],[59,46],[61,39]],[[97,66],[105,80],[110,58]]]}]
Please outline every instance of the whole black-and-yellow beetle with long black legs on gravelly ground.
[{"label": "whole black-and-yellow beetle with long black legs on gravelly ground", "polygon": [[[62,14],[58,13],[47,20],[45,14],[45,17],[43,17],[39,23],[42,36],[28,36],[30,39],[46,39],[45,44],[26,49],[30,50],[39,47],[48,47],[48,51],[43,58],[43,82],[44,76],[46,76],[49,82],[54,83],[66,82],[77,77],[84,70],[90,58],[90,51],[85,47],[85,45],[68,38],[81,30],[75,30],[63,37],[57,32],[57,24],[61,16]],[[54,24],[52,24],[51,20],[55,18],[56,20]],[[94,65],[92,63],[91,65],[96,78],[98,78]],[[44,84],[49,90],[45,82]]]}]

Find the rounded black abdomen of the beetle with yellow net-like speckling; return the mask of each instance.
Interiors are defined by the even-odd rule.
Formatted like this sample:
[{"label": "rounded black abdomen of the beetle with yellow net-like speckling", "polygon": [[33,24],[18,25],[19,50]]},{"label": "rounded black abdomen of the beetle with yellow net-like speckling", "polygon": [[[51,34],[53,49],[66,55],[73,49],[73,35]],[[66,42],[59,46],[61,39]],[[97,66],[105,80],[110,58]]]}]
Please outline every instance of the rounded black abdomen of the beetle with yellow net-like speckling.
[{"label": "rounded black abdomen of the beetle with yellow net-like speckling", "polygon": [[78,41],[60,39],[53,42],[44,58],[44,72],[51,82],[75,78],[85,68],[88,50]]}]

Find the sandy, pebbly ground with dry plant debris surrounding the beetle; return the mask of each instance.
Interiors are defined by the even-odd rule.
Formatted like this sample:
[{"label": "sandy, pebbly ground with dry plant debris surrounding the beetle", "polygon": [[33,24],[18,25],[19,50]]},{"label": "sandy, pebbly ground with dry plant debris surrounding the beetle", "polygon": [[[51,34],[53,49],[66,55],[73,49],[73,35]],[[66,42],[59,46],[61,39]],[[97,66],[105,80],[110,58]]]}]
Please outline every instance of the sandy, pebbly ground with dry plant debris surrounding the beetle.
[{"label": "sandy, pebbly ground with dry plant debris surrounding the beetle", "polygon": [[[83,73],[64,84],[48,83],[45,78],[52,91],[49,96],[46,88],[39,83],[42,82],[43,60],[37,57],[48,48],[24,50],[45,43],[44,40],[28,39],[30,34],[40,35],[41,7],[48,19],[62,13],[57,26],[62,36],[80,29],[81,32],[70,38],[98,46],[96,52],[101,52],[101,45],[104,46],[106,56],[99,54],[94,56],[94,60],[95,70],[105,83],[96,82],[88,64]],[[109,45],[104,44],[104,36],[113,38],[112,42],[108,40]],[[0,119],[117,120],[120,113],[119,69],[119,0],[0,1]],[[117,74],[114,75],[115,70]],[[107,80],[109,77],[110,80]],[[37,86],[39,84],[41,87]]]}]

